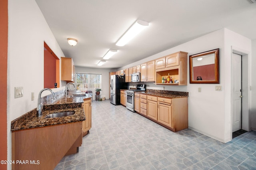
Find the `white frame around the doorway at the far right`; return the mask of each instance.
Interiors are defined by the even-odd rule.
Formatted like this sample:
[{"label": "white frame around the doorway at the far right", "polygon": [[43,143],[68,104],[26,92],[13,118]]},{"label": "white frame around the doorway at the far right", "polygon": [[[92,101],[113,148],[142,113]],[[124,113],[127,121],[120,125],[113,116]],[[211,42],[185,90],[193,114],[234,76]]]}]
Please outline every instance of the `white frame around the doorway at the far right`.
[{"label": "white frame around the doorway at the far right", "polygon": [[[250,93],[251,93],[251,79],[250,79],[250,52],[238,47],[231,46],[231,80],[233,77],[232,72],[232,53],[236,53],[242,56],[242,129],[246,131],[251,130],[251,121],[250,121]],[[232,82],[232,81],[231,81]],[[232,83],[231,83],[231,99],[232,99]],[[231,101],[231,110],[233,103]],[[231,138],[232,138],[232,120],[233,114],[231,112]],[[232,139],[231,139],[232,140]]]}]

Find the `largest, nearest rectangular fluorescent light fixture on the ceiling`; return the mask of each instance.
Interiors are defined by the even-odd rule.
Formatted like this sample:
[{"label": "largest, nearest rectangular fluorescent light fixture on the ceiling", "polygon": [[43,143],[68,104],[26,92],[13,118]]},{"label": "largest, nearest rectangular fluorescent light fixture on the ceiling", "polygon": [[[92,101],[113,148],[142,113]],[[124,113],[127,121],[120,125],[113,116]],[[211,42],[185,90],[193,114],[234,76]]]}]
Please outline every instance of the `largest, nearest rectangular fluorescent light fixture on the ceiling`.
[{"label": "largest, nearest rectangular fluorescent light fixture on the ceiling", "polygon": [[139,34],[144,28],[148,26],[148,22],[137,20],[130,26],[130,28],[124,33],[124,35],[118,40],[116,43],[117,46],[124,46],[128,43],[132,38],[134,38],[137,34]]}]

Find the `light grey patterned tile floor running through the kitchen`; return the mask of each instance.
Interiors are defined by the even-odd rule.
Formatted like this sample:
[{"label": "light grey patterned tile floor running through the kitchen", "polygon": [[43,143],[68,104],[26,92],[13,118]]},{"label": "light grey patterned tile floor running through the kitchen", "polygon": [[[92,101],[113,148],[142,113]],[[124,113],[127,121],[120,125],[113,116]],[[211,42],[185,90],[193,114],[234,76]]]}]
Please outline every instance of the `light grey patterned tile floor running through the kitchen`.
[{"label": "light grey patterned tile floor running through the kitchen", "polygon": [[55,170],[256,170],[256,132],[228,143],[172,132],[109,100],[92,102],[92,128]]}]

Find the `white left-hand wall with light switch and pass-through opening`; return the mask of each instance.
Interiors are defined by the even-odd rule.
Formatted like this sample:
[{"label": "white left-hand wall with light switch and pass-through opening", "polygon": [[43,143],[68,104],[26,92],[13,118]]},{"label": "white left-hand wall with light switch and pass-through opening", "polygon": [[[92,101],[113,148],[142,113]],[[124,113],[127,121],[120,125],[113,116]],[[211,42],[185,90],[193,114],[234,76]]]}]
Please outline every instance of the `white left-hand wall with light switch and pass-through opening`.
[{"label": "white left-hand wall with light switch and pass-through opening", "polygon": [[[64,54],[34,0],[9,0],[8,22],[7,140],[11,160],[11,121],[36,108],[38,93],[44,88],[44,41],[59,58]],[[23,87],[23,97],[14,99],[14,87]],[[48,94],[45,91],[42,96]]]}]

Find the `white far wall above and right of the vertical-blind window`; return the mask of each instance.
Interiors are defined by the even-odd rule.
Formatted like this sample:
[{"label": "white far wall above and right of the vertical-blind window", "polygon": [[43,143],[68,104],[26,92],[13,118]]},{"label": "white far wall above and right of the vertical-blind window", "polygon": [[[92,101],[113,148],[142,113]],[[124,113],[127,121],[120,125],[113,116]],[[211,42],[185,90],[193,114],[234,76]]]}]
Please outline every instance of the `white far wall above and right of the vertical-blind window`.
[{"label": "white far wall above and right of the vertical-blind window", "polygon": [[[109,99],[109,72],[116,71],[116,69],[98,69],[88,67],[76,67],[76,73],[98,73],[102,74],[102,91],[100,95],[105,95],[106,99]],[[93,97],[95,100],[95,96]]]}]

